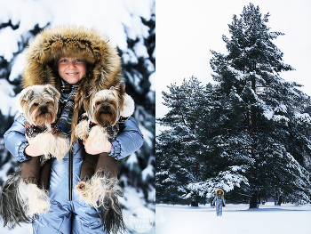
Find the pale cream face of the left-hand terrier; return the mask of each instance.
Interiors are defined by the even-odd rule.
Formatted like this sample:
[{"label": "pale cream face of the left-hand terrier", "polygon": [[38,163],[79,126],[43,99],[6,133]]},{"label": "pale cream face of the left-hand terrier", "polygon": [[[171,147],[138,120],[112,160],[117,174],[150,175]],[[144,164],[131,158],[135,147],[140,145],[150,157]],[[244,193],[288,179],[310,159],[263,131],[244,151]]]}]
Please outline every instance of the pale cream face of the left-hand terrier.
[{"label": "pale cream face of the left-hand terrier", "polygon": [[51,125],[59,109],[60,93],[52,85],[33,85],[20,93],[20,110],[31,125]]}]

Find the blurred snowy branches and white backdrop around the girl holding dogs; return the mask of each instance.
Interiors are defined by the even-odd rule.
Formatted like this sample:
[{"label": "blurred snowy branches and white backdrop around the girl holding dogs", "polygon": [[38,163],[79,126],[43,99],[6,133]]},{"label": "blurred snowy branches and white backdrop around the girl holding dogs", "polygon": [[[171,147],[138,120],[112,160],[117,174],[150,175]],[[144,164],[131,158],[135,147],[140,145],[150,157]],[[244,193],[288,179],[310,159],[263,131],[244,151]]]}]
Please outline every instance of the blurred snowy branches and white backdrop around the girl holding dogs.
[{"label": "blurred snowy branches and white backdrop around the girl holding dogs", "polygon": [[[132,233],[128,217],[133,210],[147,207],[155,213],[155,0],[0,1],[0,181],[17,165],[4,149],[2,136],[16,115],[23,52],[42,28],[68,24],[99,30],[122,56],[126,92],[136,103],[133,116],[145,137],[141,149],[119,163],[124,221]],[[31,225],[11,231],[1,226],[0,233],[32,232]]]}]

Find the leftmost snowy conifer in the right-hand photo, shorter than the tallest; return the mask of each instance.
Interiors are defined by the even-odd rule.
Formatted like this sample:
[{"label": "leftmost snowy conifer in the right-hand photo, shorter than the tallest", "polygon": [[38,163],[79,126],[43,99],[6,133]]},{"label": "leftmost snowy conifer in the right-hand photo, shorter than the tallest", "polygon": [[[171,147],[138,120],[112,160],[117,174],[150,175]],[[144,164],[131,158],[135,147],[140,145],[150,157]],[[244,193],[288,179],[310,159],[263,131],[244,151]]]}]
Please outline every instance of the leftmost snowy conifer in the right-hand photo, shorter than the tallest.
[{"label": "leftmost snowy conifer in the right-hand photo, shorter than the tallest", "polygon": [[202,125],[204,88],[195,77],[168,88],[168,93],[163,92],[163,105],[170,110],[158,119],[160,125],[170,128],[161,132],[156,141],[156,201],[191,201],[197,206],[203,197],[189,193],[187,185],[197,181],[202,169],[197,158],[197,133]]}]

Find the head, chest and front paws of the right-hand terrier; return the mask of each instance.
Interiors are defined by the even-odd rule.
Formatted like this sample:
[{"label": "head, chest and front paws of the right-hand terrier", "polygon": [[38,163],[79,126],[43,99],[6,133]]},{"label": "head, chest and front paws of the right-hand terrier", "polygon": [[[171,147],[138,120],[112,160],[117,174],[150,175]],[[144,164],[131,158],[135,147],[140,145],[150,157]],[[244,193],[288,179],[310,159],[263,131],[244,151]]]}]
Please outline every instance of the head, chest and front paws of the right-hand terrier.
[{"label": "head, chest and front paws of the right-hand terrier", "polygon": [[92,147],[102,149],[116,138],[119,123],[131,117],[134,108],[132,97],[125,93],[124,82],[98,93],[91,92],[84,101],[86,119],[76,125],[76,137],[83,141],[88,138]]}]

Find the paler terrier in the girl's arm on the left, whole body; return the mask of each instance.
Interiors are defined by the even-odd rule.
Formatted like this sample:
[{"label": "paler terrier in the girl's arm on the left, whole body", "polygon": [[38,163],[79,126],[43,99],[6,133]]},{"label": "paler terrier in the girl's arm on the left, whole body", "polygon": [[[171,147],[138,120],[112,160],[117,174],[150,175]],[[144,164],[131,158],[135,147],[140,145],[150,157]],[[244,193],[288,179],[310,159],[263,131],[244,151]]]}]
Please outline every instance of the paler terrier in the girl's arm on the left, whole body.
[{"label": "paler terrier in the girl's arm on the left, whole body", "polygon": [[27,140],[37,143],[43,155],[23,162],[20,170],[4,183],[0,196],[1,213],[10,225],[50,209],[46,190],[50,158],[52,155],[60,161],[69,149],[67,135],[56,124],[59,101],[60,92],[52,85],[33,85],[20,93],[18,106],[24,117]]}]

